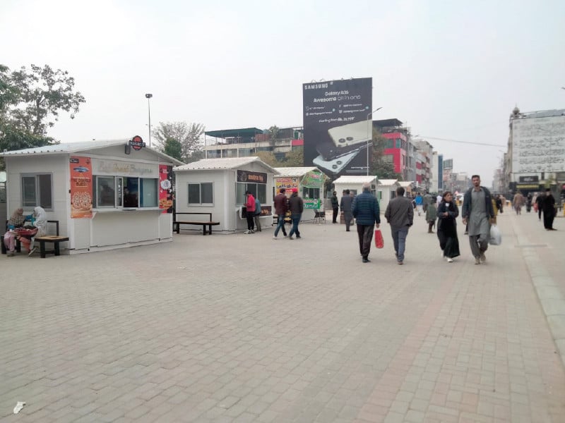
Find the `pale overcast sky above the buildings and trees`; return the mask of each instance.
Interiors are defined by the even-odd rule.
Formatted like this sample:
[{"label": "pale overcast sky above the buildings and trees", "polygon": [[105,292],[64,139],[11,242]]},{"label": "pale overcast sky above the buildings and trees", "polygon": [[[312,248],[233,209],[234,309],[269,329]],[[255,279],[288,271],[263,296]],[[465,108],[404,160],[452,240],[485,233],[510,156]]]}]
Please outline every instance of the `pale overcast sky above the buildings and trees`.
[{"label": "pale overcast sky above the buildings and trees", "polygon": [[304,82],[370,77],[374,119],[488,186],[512,109],[565,108],[562,0],[1,0],[0,40],[11,70],[75,78],[86,103],[60,142],[147,140],[145,93],[153,128],[302,126]]}]

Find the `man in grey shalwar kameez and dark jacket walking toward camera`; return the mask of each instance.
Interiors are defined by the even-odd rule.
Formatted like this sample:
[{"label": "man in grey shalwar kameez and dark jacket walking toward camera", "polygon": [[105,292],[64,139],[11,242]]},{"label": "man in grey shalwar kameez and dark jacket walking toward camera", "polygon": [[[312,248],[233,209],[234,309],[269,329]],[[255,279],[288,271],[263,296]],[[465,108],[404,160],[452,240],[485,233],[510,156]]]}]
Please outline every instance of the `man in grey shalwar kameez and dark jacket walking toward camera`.
[{"label": "man in grey shalwar kameez and dark jacket walking toward camera", "polygon": [[494,209],[490,191],[482,187],[478,175],[471,177],[472,187],[463,197],[463,224],[468,224],[469,243],[475,264],[487,261],[484,252],[489,247],[490,226],[494,223]]}]

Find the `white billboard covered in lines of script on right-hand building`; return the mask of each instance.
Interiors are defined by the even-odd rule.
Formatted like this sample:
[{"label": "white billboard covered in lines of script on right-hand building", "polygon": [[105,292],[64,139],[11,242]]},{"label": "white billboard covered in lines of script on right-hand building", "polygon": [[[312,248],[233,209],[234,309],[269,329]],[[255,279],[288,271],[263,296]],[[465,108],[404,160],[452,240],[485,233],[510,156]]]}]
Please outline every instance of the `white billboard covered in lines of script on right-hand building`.
[{"label": "white billboard covered in lines of script on right-hand building", "polygon": [[512,121],[512,173],[565,169],[565,116]]}]

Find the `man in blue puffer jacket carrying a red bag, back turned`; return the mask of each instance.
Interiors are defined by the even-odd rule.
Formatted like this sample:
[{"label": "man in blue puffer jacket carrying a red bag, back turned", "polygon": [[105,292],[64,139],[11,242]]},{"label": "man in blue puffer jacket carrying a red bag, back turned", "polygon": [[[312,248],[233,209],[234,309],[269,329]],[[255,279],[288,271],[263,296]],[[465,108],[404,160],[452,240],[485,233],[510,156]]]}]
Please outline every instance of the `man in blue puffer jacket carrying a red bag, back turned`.
[{"label": "man in blue puffer jacket carrying a red bag, back turned", "polygon": [[363,192],[353,199],[352,214],[357,223],[357,236],[359,237],[359,252],[361,252],[362,262],[368,263],[369,252],[371,251],[371,240],[373,231],[381,226],[381,210],[379,201],[371,194],[371,184],[363,184]]}]

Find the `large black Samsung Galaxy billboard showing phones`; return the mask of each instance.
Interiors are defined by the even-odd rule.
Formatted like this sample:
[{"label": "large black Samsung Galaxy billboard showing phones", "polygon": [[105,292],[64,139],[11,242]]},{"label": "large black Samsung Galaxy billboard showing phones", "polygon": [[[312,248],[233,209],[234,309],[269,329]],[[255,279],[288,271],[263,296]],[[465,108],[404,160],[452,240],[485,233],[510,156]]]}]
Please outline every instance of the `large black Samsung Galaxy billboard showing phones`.
[{"label": "large black Samsung Galaxy billboard showing phones", "polygon": [[366,175],[367,148],[372,157],[372,78],[302,84],[302,100],[304,166],[333,177]]}]

